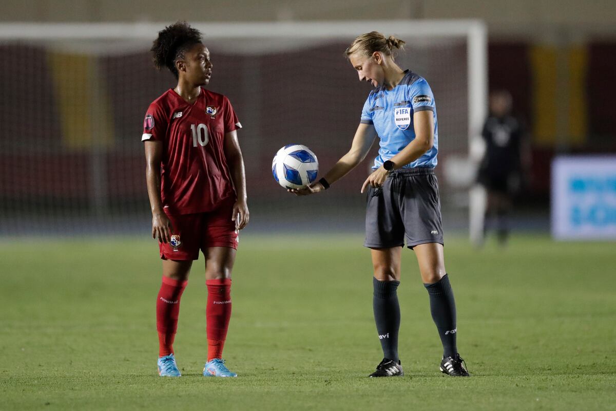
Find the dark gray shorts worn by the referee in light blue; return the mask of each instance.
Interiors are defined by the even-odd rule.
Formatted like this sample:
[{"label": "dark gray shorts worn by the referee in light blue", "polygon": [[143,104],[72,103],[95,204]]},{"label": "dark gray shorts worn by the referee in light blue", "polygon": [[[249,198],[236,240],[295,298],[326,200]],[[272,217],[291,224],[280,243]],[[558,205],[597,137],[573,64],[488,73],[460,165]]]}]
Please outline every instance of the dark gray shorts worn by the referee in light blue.
[{"label": "dark gray shorts worn by the referee in light blue", "polygon": [[368,190],[366,240],[370,248],[408,248],[443,243],[439,183],[431,168],[389,173],[383,187]]}]

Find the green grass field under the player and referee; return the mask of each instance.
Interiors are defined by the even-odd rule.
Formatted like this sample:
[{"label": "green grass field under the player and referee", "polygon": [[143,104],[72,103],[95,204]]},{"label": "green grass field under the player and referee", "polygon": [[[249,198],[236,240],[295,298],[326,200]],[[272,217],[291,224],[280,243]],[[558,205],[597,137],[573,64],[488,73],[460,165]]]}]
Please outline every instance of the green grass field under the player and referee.
[{"label": "green grass field under the player and referee", "polygon": [[362,237],[246,234],[225,358],[201,376],[203,257],[182,298],[183,376],[156,373],[160,261],[140,238],[0,241],[0,409],[616,409],[616,247],[519,236],[445,248],[458,348],[472,378],[438,370],[440,341],[415,256],[403,253],[402,378],[381,360]]}]

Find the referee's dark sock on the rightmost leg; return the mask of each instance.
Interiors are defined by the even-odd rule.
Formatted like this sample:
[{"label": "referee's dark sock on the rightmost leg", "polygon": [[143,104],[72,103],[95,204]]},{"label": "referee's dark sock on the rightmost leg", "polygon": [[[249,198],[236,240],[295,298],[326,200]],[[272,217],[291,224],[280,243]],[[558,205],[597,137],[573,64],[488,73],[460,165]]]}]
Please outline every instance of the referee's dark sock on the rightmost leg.
[{"label": "referee's dark sock on the rightmost leg", "polygon": [[440,341],[443,343],[443,356],[453,357],[458,353],[456,347],[456,302],[447,274],[434,284],[424,284],[430,296],[430,312]]}]

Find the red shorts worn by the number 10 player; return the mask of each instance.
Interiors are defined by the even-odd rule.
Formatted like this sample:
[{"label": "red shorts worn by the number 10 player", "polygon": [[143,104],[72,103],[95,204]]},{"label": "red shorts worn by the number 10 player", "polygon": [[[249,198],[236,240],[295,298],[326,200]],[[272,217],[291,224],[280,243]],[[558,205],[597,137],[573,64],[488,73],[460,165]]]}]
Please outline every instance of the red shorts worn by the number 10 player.
[{"label": "red shorts worn by the number 10 player", "polygon": [[170,216],[171,242],[160,243],[160,258],[196,260],[199,250],[209,247],[230,247],[237,250],[239,234],[232,221],[235,198],[230,197],[209,213]]}]

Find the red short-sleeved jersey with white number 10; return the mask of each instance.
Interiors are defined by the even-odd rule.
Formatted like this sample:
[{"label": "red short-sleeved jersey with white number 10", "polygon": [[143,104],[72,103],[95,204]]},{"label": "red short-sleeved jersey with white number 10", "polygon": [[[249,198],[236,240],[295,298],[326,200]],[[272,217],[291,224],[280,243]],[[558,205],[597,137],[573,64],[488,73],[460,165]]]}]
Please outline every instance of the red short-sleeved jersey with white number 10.
[{"label": "red short-sleeved jersey with white number 10", "polygon": [[238,128],[229,99],[203,87],[194,104],[172,89],[150,104],[141,140],[163,143],[161,197],[168,214],[212,211],[235,195],[224,137]]}]

